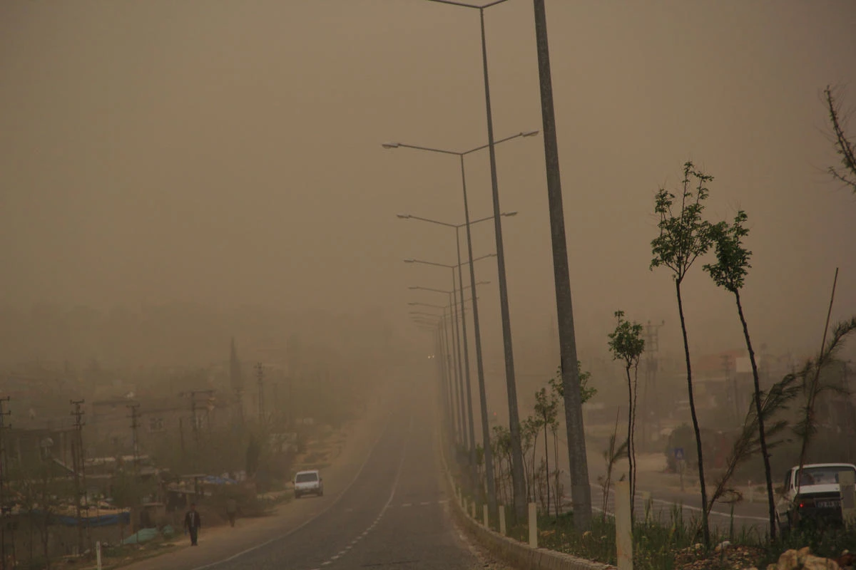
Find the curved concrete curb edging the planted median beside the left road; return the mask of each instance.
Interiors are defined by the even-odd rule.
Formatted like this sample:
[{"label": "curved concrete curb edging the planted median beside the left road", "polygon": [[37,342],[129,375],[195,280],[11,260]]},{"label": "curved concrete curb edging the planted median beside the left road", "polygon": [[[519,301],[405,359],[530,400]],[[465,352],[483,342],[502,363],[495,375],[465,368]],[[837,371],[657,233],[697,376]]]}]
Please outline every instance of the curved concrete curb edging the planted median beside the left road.
[{"label": "curved concrete curb edging the planted median beside the left road", "polygon": [[479,524],[461,508],[455,493],[455,481],[452,480],[452,473],[449,471],[445,454],[442,451],[441,457],[443,458],[443,471],[446,473],[449,503],[452,504],[451,510],[455,520],[458,521],[469,537],[473,538],[491,555],[514,568],[526,568],[527,570],[615,570],[614,566],[602,562],[578,558],[556,550],[532,548],[529,544],[502,536],[499,532]]}]

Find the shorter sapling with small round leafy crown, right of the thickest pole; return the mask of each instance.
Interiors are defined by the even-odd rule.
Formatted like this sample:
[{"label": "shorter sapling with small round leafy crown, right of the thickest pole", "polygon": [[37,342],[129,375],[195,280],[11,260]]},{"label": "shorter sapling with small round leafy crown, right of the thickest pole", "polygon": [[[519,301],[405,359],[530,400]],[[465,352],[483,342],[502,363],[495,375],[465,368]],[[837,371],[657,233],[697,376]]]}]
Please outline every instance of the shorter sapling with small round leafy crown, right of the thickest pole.
[{"label": "shorter sapling with small round leafy crown, right of the thickest pole", "polygon": [[[642,339],[642,325],[624,319],[624,311],[615,311],[618,325],[609,333],[609,351],[614,360],[624,361],[624,373],[627,374],[627,463],[630,479],[630,497],[636,496],[636,444],[633,432],[636,429],[636,401],[639,385],[639,358],[645,350]],[[633,368],[633,378],[630,369]],[[630,501],[630,519],[633,520],[633,500]]]}]

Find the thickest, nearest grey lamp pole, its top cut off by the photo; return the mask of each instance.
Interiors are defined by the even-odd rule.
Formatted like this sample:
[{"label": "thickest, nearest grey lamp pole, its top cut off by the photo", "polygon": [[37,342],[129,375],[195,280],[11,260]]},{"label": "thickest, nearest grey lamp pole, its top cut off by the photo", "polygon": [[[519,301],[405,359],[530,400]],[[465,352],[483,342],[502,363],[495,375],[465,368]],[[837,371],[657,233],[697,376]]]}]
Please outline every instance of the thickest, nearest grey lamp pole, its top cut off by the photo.
[{"label": "thickest, nearest grey lamp pole, its top cut off by the photo", "polygon": [[544,160],[547,170],[547,198],[550,204],[550,238],[553,244],[553,275],[556,280],[556,313],[559,326],[559,352],[562,356],[562,387],[565,399],[565,424],[568,429],[571,497],[574,502],[574,526],[591,526],[591,486],[586,459],[586,434],[583,426],[580,371],[574,333],[574,309],[571,303],[571,278],[568,271],[568,241],[562,209],[562,177],[559,172],[559,146],[556,140],[556,113],[553,109],[553,81],[550,77],[550,47],[547,42],[547,14],[544,0],[533,0],[535,37],[538,45],[538,77],[541,86],[541,118],[544,123]]}]

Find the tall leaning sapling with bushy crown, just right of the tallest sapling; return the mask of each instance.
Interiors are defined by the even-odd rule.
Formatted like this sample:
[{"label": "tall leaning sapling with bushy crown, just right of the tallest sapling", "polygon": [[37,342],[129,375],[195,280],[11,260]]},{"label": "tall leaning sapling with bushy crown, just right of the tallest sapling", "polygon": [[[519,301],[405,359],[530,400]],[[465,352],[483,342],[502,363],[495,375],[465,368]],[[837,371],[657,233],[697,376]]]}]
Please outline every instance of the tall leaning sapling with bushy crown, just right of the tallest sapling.
[{"label": "tall leaning sapling with bushy crown, just right of the tallest sapling", "polygon": [[[752,363],[752,380],[755,385],[755,421],[758,427],[758,442],[761,448],[761,457],[764,459],[764,479],[767,485],[767,509],[770,516],[770,538],[776,540],[776,496],[773,493],[773,475],[770,469],[770,454],[767,451],[767,437],[764,432],[764,414],[762,413],[761,384],[758,379],[758,362],[755,359],[755,350],[752,349],[752,338],[749,336],[749,326],[746,325],[746,316],[743,314],[743,304],[740,303],[740,290],[746,280],[746,275],[751,265],[749,258],[752,251],[743,246],[743,238],[749,234],[744,226],[746,223],[746,212],[740,210],[734,216],[734,223],[728,226],[724,222],[716,227],[716,263],[704,265],[704,271],[710,273],[717,286],[726,291],[734,293],[734,301],[737,303],[737,314],[740,316],[740,325],[743,326],[743,338],[746,340],[746,350],[749,352],[749,361]],[[746,427],[746,423],[744,423]],[[711,505],[715,499],[711,499]]]}]

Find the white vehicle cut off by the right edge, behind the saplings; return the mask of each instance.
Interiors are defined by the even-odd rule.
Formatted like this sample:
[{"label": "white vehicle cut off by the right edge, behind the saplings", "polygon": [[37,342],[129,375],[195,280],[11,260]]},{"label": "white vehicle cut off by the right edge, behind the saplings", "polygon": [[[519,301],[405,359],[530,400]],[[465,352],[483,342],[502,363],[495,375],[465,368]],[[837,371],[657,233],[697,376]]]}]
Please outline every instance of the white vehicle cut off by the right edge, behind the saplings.
[{"label": "white vehicle cut off by the right edge, behind the saplings", "polygon": [[776,504],[779,528],[787,531],[806,521],[815,524],[840,522],[841,487],[838,484],[838,473],[842,471],[856,475],[856,465],[812,463],[804,465],[801,471],[799,466],[788,469]]}]

